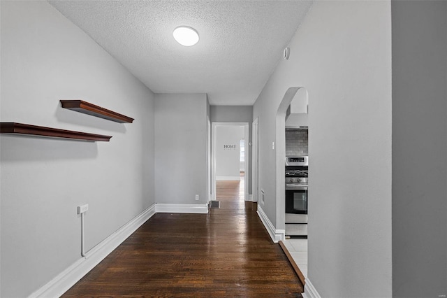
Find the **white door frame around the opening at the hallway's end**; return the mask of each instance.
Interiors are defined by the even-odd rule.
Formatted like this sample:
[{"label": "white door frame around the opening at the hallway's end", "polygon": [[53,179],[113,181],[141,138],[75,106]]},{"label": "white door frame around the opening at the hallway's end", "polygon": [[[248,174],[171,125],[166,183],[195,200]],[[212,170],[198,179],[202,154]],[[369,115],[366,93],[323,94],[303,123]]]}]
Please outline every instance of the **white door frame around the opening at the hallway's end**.
[{"label": "white door frame around the opening at the hallway's end", "polygon": [[[216,200],[216,134],[218,126],[243,126],[244,127],[244,140],[247,144],[249,141],[249,122],[212,122],[212,150],[211,150],[211,200]],[[247,165],[249,164],[250,159],[250,150],[247,150],[247,145],[245,146],[245,191],[244,191],[244,200],[249,201],[249,171],[247,171]]]}]

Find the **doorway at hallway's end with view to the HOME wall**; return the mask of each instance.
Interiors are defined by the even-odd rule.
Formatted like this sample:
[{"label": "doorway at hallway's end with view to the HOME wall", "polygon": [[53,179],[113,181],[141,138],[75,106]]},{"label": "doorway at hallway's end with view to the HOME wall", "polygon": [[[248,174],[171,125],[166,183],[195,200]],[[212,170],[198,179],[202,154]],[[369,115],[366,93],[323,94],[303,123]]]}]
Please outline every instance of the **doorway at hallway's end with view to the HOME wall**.
[{"label": "doorway at hallway's end with view to the HOME wall", "polygon": [[248,122],[212,122],[212,201],[216,200],[217,180],[240,181],[241,177],[244,180],[243,198],[249,200],[248,140]]}]

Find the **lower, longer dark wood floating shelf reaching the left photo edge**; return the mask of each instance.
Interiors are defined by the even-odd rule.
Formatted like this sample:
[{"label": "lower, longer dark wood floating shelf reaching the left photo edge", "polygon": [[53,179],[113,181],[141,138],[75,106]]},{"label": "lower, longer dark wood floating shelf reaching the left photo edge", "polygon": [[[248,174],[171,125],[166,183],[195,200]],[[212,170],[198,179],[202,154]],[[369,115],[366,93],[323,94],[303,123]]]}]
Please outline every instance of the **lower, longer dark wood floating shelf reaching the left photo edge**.
[{"label": "lower, longer dark wood floating shelf reaching the left photo edge", "polygon": [[82,141],[110,141],[112,136],[102,134],[88,134],[87,132],[73,132],[71,130],[26,125],[15,122],[0,122],[1,134],[24,134],[32,136],[47,136],[52,138],[75,139]]}]

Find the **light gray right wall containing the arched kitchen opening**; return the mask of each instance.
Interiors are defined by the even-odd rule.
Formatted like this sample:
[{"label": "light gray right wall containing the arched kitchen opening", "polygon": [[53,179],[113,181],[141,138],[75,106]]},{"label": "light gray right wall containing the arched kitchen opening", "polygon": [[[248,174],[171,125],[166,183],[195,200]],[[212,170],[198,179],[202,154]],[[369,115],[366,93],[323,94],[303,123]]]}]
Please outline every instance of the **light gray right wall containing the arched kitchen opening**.
[{"label": "light gray right wall containing the arched kitchen opening", "polygon": [[289,87],[309,92],[308,278],[321,297],[392,294],[390,22],[390,1],[315,1],[254,105],[260,206],[283,229],[276,115]]}]

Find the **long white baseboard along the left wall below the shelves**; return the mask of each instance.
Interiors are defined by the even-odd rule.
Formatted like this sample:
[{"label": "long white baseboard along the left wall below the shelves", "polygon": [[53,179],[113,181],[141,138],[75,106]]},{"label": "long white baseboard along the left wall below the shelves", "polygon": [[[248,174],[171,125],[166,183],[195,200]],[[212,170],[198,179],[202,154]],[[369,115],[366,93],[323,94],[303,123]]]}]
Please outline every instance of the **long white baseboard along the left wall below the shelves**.
[{"label": "long white baseboard along the left wall below the shelves", "polygon": [[64,292],[77,283],[85,274],[99,262],[112,253],[115,248],[126,240],[133,232],[155,214],[155,204],[137,215],[133,220],[119,228],[116,232],[91,248],[86,257],[82,257],[70,267],[62,271],[42,288],[33,292],[29,297],[60,297]]}]

